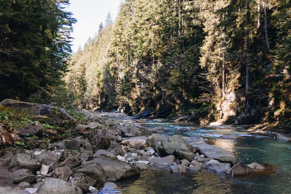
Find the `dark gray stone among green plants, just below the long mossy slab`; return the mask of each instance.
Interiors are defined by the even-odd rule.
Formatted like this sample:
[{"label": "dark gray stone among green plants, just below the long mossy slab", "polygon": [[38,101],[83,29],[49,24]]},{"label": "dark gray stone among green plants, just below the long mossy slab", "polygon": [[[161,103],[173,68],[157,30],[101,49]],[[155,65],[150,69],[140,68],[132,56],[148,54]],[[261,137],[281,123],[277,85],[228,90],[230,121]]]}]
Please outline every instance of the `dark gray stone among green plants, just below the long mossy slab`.
[{"label": "dark gray stone among green plants, just below the long mossy slab", "polygon": [[19,130],[19,136],[20,137],[32,137],[35,136],[42,136],[42,133],[44,131],[44,128],[41,124],[38,122],[32,122],[28,124],[26,127],[21,127]]}]

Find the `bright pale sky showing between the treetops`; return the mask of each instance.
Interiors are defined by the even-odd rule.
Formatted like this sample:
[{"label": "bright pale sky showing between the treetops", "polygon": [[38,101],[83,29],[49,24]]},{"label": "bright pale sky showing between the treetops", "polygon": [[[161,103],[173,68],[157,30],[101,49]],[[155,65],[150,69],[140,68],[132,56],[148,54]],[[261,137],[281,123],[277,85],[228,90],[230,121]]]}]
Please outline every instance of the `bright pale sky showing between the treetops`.
[{"label": "bright pale sky showing between the treetops", "polygon": [[75,52],[79,45],[82,47],[86,43],[89,36],[94,36],[101,22],[104,24],[109,11],[114,21],[121,0],[70,0],[70,3],[66,10],[72,12],[78,20],[71,34],[74,38],[72,49]]}]

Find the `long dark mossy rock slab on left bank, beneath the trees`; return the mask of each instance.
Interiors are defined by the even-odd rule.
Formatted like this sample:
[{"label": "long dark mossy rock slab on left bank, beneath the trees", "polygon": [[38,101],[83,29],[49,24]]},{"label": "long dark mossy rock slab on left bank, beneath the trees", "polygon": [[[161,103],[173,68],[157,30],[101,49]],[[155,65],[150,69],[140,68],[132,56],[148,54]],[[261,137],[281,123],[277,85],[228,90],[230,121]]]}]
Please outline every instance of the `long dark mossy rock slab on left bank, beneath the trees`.
[{"label": "long dark mossy rock slab on left bank, beneath the trees", "polygon": [[30,113],[34,119],[38,119],[40,122],[48,124],[65,124],[73,119],[73,117],[65,112],[64,109],[45,104],[4,99],[0,102],[0,105],[5,107],[17,107],[18,110],[25,110]]}]

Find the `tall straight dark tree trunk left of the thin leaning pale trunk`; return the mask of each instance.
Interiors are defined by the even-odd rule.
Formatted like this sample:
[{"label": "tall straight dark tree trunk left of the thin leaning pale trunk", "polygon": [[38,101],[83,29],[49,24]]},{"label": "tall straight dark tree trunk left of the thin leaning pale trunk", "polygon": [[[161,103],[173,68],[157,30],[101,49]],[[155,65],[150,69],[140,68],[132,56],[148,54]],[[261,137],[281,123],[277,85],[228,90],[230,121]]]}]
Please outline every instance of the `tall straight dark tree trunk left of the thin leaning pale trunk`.
[{"label": "tall straight dark tree trunk left of the thin leaning pale trunk", "polygon": [[249,92],[249,50],[250,50],[250,2],[246,3],[246,61],[245,61],[245,91]]}]

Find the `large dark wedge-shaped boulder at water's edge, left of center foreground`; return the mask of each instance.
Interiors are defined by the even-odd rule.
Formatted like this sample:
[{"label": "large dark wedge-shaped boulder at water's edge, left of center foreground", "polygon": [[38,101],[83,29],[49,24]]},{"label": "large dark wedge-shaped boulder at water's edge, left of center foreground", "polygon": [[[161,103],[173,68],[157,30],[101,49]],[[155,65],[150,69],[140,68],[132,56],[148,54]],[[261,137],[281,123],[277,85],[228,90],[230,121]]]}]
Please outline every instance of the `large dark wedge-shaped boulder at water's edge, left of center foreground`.
[{"label": "large dark wedge-shaped boulder at water's edge, left of center foreground", "polygon": [[104,154],[92,161],[87,161],[87,163],[91,162],[97,162],[103,167],[108,174],[109,181],[122,180],[140,175],[140,171],[135,166]]}]

